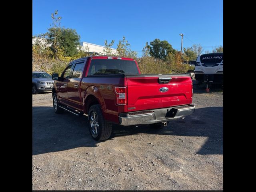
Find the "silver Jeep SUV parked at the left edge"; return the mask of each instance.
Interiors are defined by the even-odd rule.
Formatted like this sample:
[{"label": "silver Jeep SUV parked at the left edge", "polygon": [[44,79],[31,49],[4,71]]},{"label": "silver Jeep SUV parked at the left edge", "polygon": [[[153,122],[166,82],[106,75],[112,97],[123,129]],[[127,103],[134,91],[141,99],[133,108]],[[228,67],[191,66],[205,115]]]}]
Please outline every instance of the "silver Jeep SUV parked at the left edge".
[{"label": "silver Jeep SUV parked at the left edge", "polygon": [[53,87],[52,76],[44,71],[32,72],[32,94],[38,94],[38,92],[52,91]]}]

